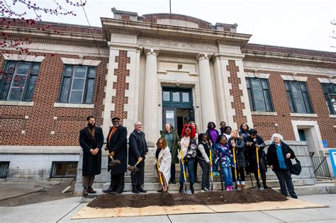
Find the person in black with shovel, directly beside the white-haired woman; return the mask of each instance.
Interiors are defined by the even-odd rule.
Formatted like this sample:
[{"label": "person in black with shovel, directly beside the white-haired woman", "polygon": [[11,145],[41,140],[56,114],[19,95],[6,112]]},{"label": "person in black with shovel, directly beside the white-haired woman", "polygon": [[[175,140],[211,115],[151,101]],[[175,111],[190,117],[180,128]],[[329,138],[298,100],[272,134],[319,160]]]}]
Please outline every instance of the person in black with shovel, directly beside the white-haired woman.
[{"label": "person in black with shovel, directly beside the white-haired woman", "polygon": [[257,186],[260,188],[260,181],[258,176],[258,168],[257,168],[257,150],[258,148],[258,156],[259,156],[259,171],[260,175],[262,176],[262,184],[264,185],[264,189],[269,188],[266,185],[266,172],[267,172],[267,165],[266,165],[266,153],[264,148],[266,144],[264,144],[264,139],[258,135],[257,130],[251,129],[249,131],[249,135],[244,138],[245,142],[245,149],[247,153],[247,162],[248,162],[248,169],[250,173],[254,173],[254,176],[257,180]]}]

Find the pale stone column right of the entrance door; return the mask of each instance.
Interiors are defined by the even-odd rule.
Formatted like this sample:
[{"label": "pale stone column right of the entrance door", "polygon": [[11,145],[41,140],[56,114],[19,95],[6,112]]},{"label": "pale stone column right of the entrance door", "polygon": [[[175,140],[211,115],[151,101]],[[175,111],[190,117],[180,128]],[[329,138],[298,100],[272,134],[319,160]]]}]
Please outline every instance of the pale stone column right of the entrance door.
[{"label": "pale stone column right of the entrance door", "polygon": [[199,65],[199,86],[201,92],[202,129],[206,130],[208,122],[215,122],[215,101],[213,99],[213,86],[211,84],[211,72],[209,55],[198,53],[196,56]]}]

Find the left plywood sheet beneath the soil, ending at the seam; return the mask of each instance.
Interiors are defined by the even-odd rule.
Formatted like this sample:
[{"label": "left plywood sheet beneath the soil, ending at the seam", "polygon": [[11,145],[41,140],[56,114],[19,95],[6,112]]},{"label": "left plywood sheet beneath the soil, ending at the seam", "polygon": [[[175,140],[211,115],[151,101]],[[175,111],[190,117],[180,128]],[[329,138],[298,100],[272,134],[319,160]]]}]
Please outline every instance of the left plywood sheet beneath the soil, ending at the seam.
[{"label": "left plywood sheet beneath the soil, ending at the seam", "polygon": [[93,208],[83,207],[72,219],[87,219],[101,217],[134,217],[151,215],[179,215],[196,213],[214,213],[205,205],[177,205],[177,206],[148,206],[148,207],[117,207]]}]

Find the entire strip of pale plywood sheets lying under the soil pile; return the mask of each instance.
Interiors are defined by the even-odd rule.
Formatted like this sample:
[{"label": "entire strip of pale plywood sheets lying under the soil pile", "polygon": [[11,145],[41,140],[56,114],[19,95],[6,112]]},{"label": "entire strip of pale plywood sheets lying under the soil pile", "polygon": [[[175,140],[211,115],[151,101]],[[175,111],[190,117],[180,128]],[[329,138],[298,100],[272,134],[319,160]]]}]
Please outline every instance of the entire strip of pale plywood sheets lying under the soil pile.
[{"label": "entire strip of pale plywood sheets lying under the soil pile", "polygon": [[298,199],[289,199],[276,202],[258,202],[251,204],[228,204],[228,205],[178,205],[178,206],[148,206],[148,207],[117,207],[117,208],[93,208],[83,207],[72,219],[90,219],[102,217],[135,217],[152,215],[181,215],[196,213],[220,213],[220,212],[249,212],[262,210],[288,210],[328,207],[314,202]]}]

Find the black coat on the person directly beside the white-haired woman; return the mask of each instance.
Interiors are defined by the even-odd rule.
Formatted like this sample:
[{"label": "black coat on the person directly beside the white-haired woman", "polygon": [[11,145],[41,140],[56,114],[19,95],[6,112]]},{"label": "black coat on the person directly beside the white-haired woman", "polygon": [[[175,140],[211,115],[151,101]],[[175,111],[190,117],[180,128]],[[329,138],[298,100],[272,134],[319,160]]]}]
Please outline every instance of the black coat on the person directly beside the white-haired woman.
[{"label": "black coat on the person directly beside the white-haired woman", "polygon": [[[257,154],[256,154],[256,148],[255,144],[259,144],[258,154],[259,154],[259,166],[262,166],[262,169],[264,172],[267,172],[267,165],[266,165],[266,153],[264,151],[264,148],[266,147],[266,144],[264,144],[264,139],[260,137],[259,135],[254,139],[252,137],[247,136],[244,138],[245,142],[245,149],[247,154],[247,162],[249,164],[249,170],[255,171],[257,169]],[[252,145],[247,145],[248,142],[252,142]]]}]

